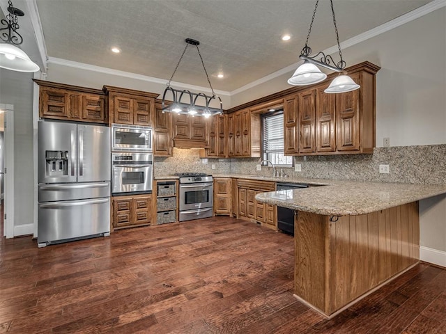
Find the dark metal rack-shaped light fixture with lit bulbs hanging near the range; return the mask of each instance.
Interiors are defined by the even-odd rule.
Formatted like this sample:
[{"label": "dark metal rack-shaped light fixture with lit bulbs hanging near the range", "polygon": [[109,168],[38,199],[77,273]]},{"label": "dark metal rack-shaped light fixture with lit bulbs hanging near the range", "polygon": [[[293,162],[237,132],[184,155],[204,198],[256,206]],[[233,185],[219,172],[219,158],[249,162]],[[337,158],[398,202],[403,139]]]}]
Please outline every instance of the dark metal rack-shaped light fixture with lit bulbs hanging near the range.
[{"label": "dark metal rack-shaped light fixture with lit bulbs hanging near the range", "polygon": [[[183,51],[183,54],[181,54],[180,60],[178,61],[178,64],[176,64],[174,73],[172,73],[172,76],[170,77],[169,82],[167,83],[167,87],[164,90],[164,94],[162,95],[162,112],[164,113],[164,111],[168,111],[171,113],[182,113],[191,116],[203,116],[206,118],[216,114],[221,115],[223,113],[222,99],[220,99],[219,96],[215,95],[214,89],[210,84],[208,72],[206,71],[206,67],[204,67],[203,58],[201,57],[200,49],[198,47],[200,45],[200,42],[198,40],[192,40],[192,38],[186,38],[185,42],[187,44]],[[198,55],[200,56],[201,60],[201,65],[203,65],[203,70],[206,74],[206,78],[208,79],[210,90],[212,90],[212,96],[208,96],[204,93],[192,93],[187,89],[178,90],[171,88],[170,86],[170,83],[174,78],[175,72],[178,69],[178,66],[180,65],[181,61],[183,60],[183,56],[189,45],[194,45],[195,47],[197,47]],[[170,92],[172,95],[172,103],[169,105],[166,104],[165,100],[167,92]],[[220,109],[212,108],[209,106],[210,102],[214,99],[220,102]],[[200,102],[201,104],[197,104]]]}]

